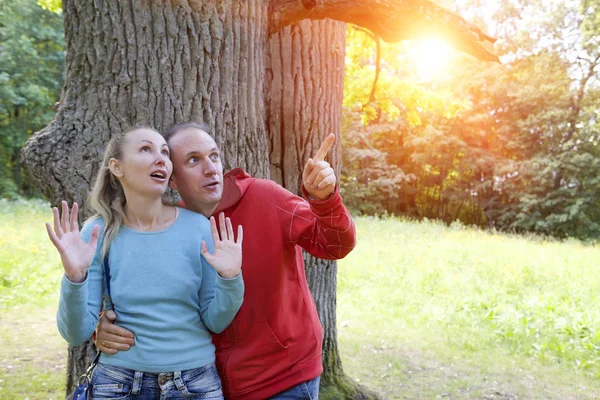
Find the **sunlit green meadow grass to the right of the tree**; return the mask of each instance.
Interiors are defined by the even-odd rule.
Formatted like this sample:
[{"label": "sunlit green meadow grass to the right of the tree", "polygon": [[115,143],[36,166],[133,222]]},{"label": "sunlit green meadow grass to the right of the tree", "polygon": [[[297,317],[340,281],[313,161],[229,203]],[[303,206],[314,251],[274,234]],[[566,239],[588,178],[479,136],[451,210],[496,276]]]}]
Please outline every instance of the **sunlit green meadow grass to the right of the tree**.
[{"label": "sunlit green meadow grass to the right of the tree", "polygon": [[600,396],[599,247],[356,223],[358,246],[339,263],[338,325],[361,383],[389,398]]}]

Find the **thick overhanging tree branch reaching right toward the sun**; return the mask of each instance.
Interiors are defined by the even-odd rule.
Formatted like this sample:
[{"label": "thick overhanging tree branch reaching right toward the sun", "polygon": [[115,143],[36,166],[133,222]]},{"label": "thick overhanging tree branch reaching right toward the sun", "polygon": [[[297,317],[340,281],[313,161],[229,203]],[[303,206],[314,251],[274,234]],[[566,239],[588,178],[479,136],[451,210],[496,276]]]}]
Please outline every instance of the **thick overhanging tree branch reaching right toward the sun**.
[{"label": "thick overhanging tree branch reaching right toward the sun", "polygon": [[386,42],[438,36],[481,60],[499,62],[479,43],[494,38],[427,0],[273,0],[269,16],[270,34],[302,19],[331,18],[367,28]]}]

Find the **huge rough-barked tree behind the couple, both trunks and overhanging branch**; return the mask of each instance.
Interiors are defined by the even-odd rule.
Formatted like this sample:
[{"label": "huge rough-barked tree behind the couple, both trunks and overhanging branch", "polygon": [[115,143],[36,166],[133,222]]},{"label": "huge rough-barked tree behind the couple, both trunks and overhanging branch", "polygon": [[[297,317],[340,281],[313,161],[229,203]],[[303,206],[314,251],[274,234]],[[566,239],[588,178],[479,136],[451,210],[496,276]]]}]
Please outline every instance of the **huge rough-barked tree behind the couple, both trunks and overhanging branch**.
[{"label": "huge rough-barked tree behind the couple, both trunks and overhanging branch", "polygon": [[[326,133],[340,133],[343,88],[343,25],[290,26],[304,18],[358,23],[388,40],[450,32],[457,47],[493,59],[476,43],[489,38],[425,0],[64,0],[63,15],[67,77],[59,108],[22,153],[53,205],[85,205],[115,132],[184,120],[213,129],[226,169],[272,173],[297,192],[306,159]],[[268,42],[269,34],[277,35]],[[338,145],[331,159],[338,173],[339,156]],[[335,263],[308,258],[307,265],[325,328],[324,386],[346,385],[341,396],[360,398],[337,350]],[[69,350],[67,392],[92,347]]]}]

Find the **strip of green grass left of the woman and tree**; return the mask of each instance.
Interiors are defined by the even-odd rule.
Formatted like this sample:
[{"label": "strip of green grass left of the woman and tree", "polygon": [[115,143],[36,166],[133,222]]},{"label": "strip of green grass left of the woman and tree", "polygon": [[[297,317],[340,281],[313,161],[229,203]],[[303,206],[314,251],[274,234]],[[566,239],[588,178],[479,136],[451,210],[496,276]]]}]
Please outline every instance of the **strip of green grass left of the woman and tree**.
[{"label": "strip of green grass left of the woman and tree", "polygon": [[63,273],[47,203],[0,200],[0,399],[64,398],[66,344],[56,329]]}]

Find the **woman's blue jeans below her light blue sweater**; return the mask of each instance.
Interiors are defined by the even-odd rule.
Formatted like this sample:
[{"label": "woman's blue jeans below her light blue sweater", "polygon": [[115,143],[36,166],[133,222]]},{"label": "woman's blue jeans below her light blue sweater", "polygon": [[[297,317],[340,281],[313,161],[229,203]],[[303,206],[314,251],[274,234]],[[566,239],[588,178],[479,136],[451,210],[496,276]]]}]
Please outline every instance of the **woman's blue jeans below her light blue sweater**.
[{"label": "woman's blue jeans below her light blue sweater", "polygon": [[186,371],[150,373],[98,363],[92,372],[92,400],[223,399],[215,364]]}]

